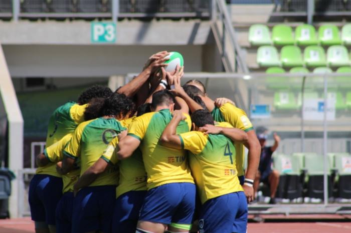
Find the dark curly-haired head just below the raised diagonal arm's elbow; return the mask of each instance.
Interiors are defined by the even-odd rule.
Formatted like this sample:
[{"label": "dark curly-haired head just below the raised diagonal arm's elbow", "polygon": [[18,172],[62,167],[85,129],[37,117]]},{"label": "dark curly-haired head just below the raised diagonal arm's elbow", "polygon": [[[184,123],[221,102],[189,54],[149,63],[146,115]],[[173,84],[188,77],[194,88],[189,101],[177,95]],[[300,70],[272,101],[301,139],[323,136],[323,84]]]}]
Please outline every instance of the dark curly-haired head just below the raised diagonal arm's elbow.
[{"label": "dark curly-haired head just below the raised diagonal arm's elbow", "polygon": [[104,116],[114,116],[121,120],[128,118],[130,113],[134,110],[134,102],[125,94],[113,93],[106,98],[102,107],[102,114]]}]

